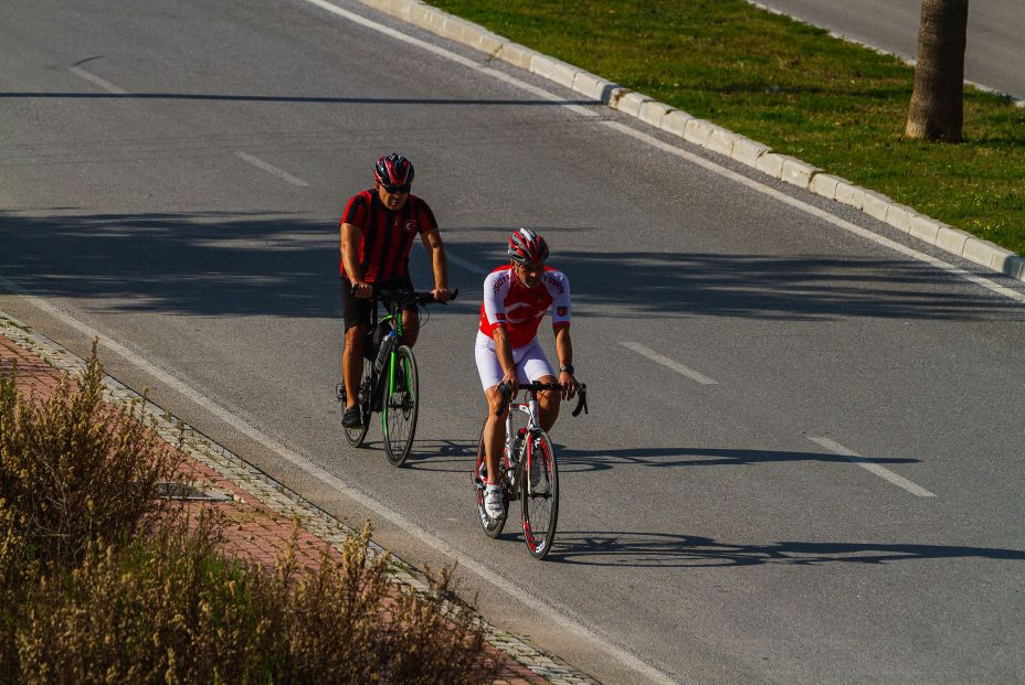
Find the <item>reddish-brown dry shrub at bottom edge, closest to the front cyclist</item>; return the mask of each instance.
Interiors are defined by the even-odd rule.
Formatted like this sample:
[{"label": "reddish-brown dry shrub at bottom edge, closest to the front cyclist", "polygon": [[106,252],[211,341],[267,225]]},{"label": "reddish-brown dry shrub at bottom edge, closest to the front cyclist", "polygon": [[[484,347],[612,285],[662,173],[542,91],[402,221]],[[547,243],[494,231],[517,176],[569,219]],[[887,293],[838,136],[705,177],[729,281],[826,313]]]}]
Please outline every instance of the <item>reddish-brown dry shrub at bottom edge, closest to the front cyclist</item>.
[{"label": "reddish-brown dry shrub at bottom edge, closest to the front cyclist", "polygon": [[[455,595],[451,569],[427,576],[430,592],[389,584],[389,555],[371,558],[370,525],[349,536],[340,561],[321,554],[300,575],[288,610],[292,666],[275,683],[469,685],[495,679],[472,604]],[[282,572],[281,582],[292,571]],[[286,585],[288,582],[286,581]],[[285,587],[282,587],[285,590]]]}]

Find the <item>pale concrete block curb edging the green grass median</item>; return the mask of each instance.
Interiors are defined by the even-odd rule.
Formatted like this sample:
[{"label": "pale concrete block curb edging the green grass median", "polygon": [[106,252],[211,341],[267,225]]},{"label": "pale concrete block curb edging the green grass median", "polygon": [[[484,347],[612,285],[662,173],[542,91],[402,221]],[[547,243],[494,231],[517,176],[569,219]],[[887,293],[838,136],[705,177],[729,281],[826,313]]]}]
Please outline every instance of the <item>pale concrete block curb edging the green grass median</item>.
[{"label": "pale concrete block curb edging the green grass median", "polygon": [[768,146],[698,119],[642,93],[525,47],[419,0],[359,0],[376,10],[548,78],[612,109],[751,167],[791,185],[865,212],[901,233],[993,271],[1025,281],[1025,257],[917,212],[913,207],[828,174]]}]

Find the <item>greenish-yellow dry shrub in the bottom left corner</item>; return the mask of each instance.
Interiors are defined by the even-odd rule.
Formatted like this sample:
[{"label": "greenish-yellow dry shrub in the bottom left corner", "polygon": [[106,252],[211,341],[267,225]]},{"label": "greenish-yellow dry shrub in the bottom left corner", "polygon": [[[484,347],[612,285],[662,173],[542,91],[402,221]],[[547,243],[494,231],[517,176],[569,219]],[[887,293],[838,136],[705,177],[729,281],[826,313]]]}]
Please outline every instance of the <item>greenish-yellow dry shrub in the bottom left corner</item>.
[{"label": "greenish-yellow dry shrub in the bottom left corner", "polygon": [[44,579],[18,635],[23,683],[266,683],[282,602],[226,559],[208,511]]}]

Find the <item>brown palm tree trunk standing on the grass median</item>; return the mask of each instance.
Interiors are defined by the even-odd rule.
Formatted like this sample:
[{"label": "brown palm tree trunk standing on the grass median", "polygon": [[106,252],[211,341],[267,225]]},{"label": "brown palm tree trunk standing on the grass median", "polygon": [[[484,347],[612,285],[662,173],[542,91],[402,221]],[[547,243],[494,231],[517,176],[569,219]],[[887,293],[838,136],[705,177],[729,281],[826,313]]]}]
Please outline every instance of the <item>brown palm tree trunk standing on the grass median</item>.
[{"label": "brown palm tree trunk standing on the grass median", "polygon": [[961,142],[969,0],[922,0],[909,138]]}]

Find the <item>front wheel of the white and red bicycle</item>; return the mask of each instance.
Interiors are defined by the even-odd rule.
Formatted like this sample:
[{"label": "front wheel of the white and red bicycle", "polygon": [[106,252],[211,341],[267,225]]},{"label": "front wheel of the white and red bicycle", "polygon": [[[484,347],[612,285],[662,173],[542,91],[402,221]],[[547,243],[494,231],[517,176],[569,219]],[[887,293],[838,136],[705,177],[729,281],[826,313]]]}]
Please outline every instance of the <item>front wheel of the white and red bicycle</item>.
[{"label": "front wheel of the white and red bicycle", "polygon": [[524,458],[527,460],[520,485],[524,536],[530,555],[543,559],[556,538],[559,520],[559,468],[547,432],[538,430],[530,436]]}]

